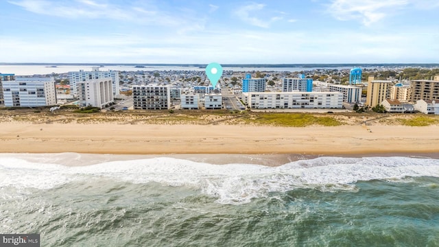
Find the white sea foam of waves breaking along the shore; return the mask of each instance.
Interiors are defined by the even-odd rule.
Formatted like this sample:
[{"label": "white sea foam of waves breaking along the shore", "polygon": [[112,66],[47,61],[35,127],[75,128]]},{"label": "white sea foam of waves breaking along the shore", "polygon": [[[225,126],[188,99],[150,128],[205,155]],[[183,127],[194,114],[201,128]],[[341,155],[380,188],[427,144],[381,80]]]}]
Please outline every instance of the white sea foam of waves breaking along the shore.
[{"label": "white sea foam of waves breaking along the shore", "polygon": [[[68,154],[69,158],[80,158]],[[62,156],[62,155],[61,155]],[[65,166],[60,154],[26,157],[0,156],[0,187],[50,189],[73,181],[109,178],[129,183],[189,186],[221,203],[245,203],[274,191],[295,188],[351,189],[359,180],[400,180],[439,177],[439,160],[407,157],[320,157],[279,167],[229,164],[211,165],[176,158],[106,161],[87,166]]]}]

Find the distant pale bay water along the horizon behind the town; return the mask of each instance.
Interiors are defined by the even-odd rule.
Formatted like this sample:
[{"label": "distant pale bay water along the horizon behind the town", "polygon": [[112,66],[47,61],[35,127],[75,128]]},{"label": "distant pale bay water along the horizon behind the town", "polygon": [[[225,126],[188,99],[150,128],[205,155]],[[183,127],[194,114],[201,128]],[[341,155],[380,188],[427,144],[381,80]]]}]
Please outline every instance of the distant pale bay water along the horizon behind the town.
[{"label": "distant pale bay water along the horizon behind the town", "polygon": [[[311,71],[313,69],[351,69],[361,67],[438,67],[439,64],[223,64],[224,71]],[[69,71],[91,71],[99,67],[101,71],[204,71],[204,64],[1,64],[0,73],[15,75],[47,75],[67,73]]]}]

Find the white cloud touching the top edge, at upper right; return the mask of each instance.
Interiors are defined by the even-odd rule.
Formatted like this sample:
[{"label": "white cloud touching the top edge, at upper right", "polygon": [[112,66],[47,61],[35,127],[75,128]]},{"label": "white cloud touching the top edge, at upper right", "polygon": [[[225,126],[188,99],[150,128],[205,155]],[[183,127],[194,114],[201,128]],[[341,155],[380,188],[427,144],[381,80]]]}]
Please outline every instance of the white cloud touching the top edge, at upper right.
[{"label": "white cloud touching the top edge, at upper right", "polygon": [[408,0],[333,0],[329,12],[340,21],[359,20],[368,26],[408,3]]}]

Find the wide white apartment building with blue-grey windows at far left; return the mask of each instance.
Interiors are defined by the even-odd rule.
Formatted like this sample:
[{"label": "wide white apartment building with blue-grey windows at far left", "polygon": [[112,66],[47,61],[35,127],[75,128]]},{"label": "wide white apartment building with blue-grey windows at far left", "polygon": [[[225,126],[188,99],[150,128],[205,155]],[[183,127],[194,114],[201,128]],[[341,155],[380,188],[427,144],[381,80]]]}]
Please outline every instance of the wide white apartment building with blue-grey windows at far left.
[{"label": "wide white apartment building with blue-grey windows at far left", "polygon": [[54,78],[21,77],[3,82],[5,106],[36,107],[56,105]]}]

